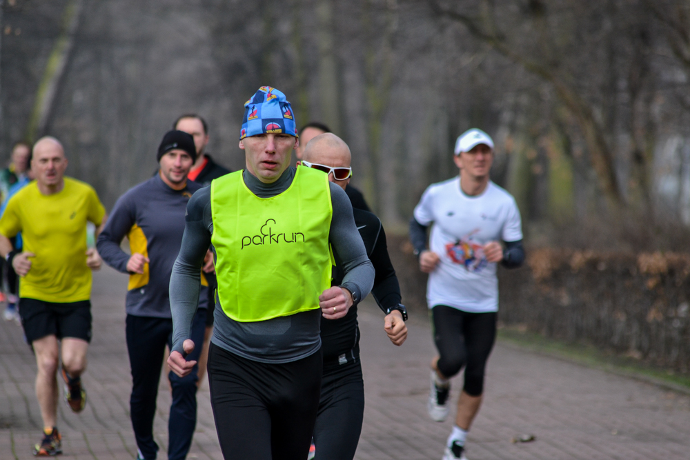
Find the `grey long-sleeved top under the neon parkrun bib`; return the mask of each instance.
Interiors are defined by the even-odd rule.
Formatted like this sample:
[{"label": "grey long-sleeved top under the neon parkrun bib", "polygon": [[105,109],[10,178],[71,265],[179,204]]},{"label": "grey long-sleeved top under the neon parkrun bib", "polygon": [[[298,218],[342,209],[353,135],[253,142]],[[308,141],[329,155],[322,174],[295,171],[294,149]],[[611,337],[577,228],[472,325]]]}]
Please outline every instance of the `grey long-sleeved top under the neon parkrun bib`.
[{"label": "grey long-sleeved top under the neon parkrun bib", "polygon": [[[274,183],[262,183],[246,170],[242,177],[257,197],[274,197],[288,189],[295,168],[288,168]],[[373,286],[374,268],[359,237],[352,206],[345,192],[331,183],[333,217],[329,241],[339,254],[345,272],[341,286],[364,299]],[[190,326],[199,299],[199,270],[213,234],[210,187],[190,199],[185,217],[182,246],[170,278],[172,310],[172,350],[183,352],[182,343],[190,338]],[[212,247],[212,250],[215,249]],[[230,319],[222,308],[215,309],[211,341],[229,352],[264,363],[287,363],[308,357],[321,347],[321,310],[300,312],[266,321],[240,322]],[[200,346],[200,344],[195,344]]]}]

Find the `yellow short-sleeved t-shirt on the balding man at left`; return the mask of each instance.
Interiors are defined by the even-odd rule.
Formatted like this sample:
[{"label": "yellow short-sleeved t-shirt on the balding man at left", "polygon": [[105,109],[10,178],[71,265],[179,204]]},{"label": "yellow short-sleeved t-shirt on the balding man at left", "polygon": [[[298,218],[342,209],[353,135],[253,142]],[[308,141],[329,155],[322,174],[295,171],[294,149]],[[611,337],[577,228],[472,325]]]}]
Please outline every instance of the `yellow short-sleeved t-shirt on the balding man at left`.
[{"label": "yellow short-sleeved t-shirt on the balding man at left", "polygon": [[0,218],[0,233],[11,238],[21,232],[23,250],[36,254],[19,281],[19,296],[58,303],[88,300],[86,221],[99,226],[105,213],[96,190],[69,177],[56,194],[41,194],[35,181],[19,190]]}]

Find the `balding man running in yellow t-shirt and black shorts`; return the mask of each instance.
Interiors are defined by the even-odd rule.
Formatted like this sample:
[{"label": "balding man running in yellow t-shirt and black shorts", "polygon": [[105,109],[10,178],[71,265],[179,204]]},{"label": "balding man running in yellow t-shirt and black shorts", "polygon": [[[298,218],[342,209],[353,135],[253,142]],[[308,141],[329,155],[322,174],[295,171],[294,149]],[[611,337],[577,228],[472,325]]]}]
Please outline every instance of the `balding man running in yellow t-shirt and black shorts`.
[{"label": "balding man running in yellow t-shirt and black shorts", "polygon": [[[64,177],[66,168],[61,143],[39,139],[31,161],[36,180],[10,199],[0,219],[0,254],[21,277],[19,315],[38,366],[36,394],[44,426],[43,441],[34,447],[39,456],[61,452],[55,428],[60,352],[68,405],[74,412],[86,405],[80,376],[91,340],[91,270],[101,266],[97,250],[86,247],[86,222],[95,223],[98,234],[106,221],[96,191]],[[19,232],[23,252],[10,243]]]}]

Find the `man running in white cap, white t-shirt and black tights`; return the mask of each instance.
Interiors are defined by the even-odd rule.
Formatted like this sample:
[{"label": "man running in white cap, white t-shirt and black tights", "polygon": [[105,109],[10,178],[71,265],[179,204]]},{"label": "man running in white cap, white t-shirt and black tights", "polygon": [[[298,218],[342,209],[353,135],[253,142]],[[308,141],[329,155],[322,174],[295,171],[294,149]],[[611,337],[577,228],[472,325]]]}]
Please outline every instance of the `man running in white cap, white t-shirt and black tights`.
[{"label": "man running in white cap, white t-shirt and black tights", "polygon": [[[466,459],[466,434],[482,403],[484,368],[496,335],[496,264],[517,268],[524,261],[520,210],[489,177],[489,134],[464,132],[453,160],[460,176],[429,186],[410,222],[420,269],[429,274],[426,300],[439,352],[431,362],[427,406],[433,420],[448,416],[450,379],[465,368],[444,460]],[[432,223],[427,249],[426,228]]]}]

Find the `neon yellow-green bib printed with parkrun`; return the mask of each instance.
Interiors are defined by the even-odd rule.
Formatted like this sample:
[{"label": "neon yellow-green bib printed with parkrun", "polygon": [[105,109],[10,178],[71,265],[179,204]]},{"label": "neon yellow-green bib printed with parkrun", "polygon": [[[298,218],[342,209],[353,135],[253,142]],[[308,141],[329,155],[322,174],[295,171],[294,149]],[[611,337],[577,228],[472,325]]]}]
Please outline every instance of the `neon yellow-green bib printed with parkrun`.
[{"label": "neon yellow-green bib printed with parkrun", "polygon": [[328,176],[298,167],[288,190],[259,198],[242,171],[211,182],[218,298],[235,321],[319,308],[331,287],[333,204]]}]

